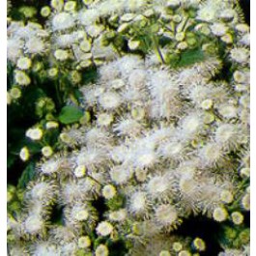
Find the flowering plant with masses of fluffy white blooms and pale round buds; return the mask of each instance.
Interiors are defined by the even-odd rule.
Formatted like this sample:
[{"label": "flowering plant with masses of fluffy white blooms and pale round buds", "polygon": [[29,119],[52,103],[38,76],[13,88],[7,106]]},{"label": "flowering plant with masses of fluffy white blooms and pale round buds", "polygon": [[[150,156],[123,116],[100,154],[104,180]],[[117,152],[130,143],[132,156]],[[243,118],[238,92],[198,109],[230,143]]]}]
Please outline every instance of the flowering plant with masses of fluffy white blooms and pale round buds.
[{"label": "flowering plant with masses of fluffy white blooms and pale round buds", "polygon": [[[8,28],[9,103],[46,81],[58,95],[25,133],[43,157],[8,187],[10,255],[249,255],[249,27],[238,2],[52,0],[41,15]],[[54,151],[43,128],[60,130]],[[217,234],[190,232],[193,219]]]}]

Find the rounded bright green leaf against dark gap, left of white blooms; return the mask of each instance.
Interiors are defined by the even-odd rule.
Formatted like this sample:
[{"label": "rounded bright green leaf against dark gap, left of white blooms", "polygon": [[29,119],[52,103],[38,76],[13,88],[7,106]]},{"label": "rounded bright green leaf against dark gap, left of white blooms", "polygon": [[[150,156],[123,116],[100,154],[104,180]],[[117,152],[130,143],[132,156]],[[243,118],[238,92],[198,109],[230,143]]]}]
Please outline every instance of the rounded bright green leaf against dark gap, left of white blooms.
[{"label": "rounded bright green leaf against dark gap, left of white blooms", "polygon": [[75,106],[65,106],[62,108],[59,115],[59,121],[62,124],[68,125],[78,122],[83,116],[83,111]]}]

